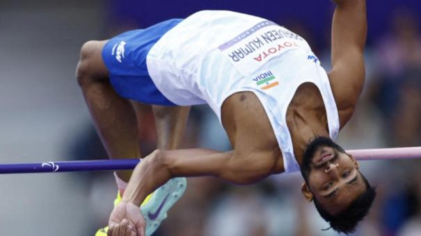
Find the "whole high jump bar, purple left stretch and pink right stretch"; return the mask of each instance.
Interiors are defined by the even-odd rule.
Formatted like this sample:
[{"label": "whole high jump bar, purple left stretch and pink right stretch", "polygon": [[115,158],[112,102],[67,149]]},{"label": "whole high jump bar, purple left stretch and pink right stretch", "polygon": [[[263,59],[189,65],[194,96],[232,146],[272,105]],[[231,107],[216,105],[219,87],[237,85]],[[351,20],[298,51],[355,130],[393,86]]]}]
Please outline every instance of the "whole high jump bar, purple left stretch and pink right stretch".
[{"label": "whole high jump bar, purple left stretch and pink right stretch", "polygon": [[[347,153],[362,161],[415,159],[421,158],[421,147],[347,150]],[[0,164],[0,174],[131,170],[139,162],[141,162],[141,159],[136,158]]]}]

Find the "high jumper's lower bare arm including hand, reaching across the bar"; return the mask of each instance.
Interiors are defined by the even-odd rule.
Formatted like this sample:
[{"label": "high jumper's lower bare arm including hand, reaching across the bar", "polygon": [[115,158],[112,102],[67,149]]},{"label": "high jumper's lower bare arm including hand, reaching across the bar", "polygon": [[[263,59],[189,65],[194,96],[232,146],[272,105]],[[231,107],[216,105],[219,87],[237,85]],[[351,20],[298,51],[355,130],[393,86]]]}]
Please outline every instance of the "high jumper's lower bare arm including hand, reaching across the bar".
[{"label": "high jumper's lower bare arm including hand, reaching across the bar", "polygon": [[139,210],[143,200],[168,180],[212,175],[235,184],[251,184],[279,173],[282,163],[271,150],[216,152],[207,149],[156,150],[136,166],[120,204],[109,219],[108,235],[145,235]]}]

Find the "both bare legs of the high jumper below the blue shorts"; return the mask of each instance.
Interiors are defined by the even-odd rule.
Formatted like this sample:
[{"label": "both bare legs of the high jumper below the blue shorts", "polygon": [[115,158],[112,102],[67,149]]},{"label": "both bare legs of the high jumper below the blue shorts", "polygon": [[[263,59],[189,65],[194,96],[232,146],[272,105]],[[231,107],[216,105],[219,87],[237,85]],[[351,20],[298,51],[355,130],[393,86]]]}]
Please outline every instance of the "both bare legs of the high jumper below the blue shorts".
[{"label": "both bare legs of the high jumper below the blue shorts", "polygon": [[[88,104],[95,128],[111,159],[141,157],[137,119],[141,105],[120,97],[112,88],[102,61],[106,41],[89,41],[81,48],[77,79]],[[152,107],[157,123],[158,148],[173,149],[182,141],[189,107]],[[132,171],[118,171],[128,182]]]}]

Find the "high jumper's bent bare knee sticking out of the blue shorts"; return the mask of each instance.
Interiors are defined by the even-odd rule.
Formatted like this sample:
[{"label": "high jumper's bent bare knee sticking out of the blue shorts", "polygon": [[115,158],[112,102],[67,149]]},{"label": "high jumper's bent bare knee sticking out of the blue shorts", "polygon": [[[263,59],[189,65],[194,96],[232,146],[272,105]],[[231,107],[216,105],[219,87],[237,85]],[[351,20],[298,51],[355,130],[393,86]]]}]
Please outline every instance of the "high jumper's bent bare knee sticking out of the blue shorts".
[{"label": "high jumper's bent bare knee sticking out of the blue shorts", "polygon": [[104,41],[88,41],[82,45],[77,63],[76,77],[79,86],[90,83],[106,74],[106,68],[101,58]]}]

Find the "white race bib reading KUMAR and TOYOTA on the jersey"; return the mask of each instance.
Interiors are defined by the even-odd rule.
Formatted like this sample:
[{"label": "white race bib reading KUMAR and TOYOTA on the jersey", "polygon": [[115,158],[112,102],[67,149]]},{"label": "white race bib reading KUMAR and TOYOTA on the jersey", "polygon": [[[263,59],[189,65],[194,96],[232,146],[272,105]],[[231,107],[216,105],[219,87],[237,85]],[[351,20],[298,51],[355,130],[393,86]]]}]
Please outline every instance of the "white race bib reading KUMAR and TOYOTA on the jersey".
[{"label": "white race bib reading KUMAR and TOYOTA on the jersey", "polygon": [[270,58],[307,43],[296,33],[265,20],[240,33],[218,49],[246,76],[264,65]]}]

